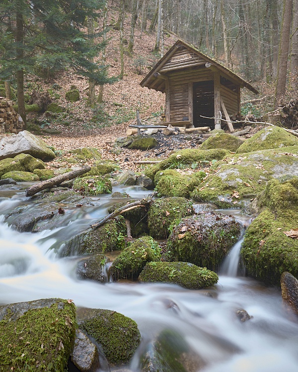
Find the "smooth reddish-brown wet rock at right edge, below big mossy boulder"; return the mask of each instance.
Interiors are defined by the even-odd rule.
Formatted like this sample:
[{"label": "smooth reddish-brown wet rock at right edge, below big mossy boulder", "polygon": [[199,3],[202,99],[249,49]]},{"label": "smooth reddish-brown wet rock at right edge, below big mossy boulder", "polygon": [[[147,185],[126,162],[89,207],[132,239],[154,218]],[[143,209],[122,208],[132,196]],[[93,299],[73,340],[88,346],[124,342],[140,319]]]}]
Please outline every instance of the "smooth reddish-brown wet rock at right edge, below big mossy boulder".
[{"label": "smooth reddish-brown wet rock at right edge, below big mossy boulder", "polygon": [[289,272],[281,276],[282,297],[284,303],[298,315],[298,280]]}]

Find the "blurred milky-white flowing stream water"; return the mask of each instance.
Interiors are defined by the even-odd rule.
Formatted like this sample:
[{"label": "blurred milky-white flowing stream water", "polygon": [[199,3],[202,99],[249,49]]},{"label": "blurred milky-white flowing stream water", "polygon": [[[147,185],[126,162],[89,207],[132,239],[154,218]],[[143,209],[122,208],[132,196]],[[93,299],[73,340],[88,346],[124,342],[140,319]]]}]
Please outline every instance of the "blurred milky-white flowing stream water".
[{"label": "blurred milky-white flowing stream water", "polygon": [[[125,191],[133,197],[144,195],[142,189]],[[101,197],[100,207],[86,208],[68,226],[35,234],[19,233],[3,222],[5,211],[24,202],[22,190],[1,188],[0,200],[0,305],[61,297],[73,299],[77,307],[115,310],[131,317],[142,334],[130,366],[133,372],[140,372],[139,359],[146,344],[164,329],[185,338],[204,361],[203,372],[298,371],[298,324],[287,318],[278,289],[236,276],[241,241],[230,251],[214,289],[101,284],[78,280],[74,274],[78,258],[57,258],[49,248],[64,233],[104,216],[112,203],[108,196]],[[237,211],[234,215],[244,225],[249,223]],[[241,322],[235,312],[242,309],[253,317]]]}]

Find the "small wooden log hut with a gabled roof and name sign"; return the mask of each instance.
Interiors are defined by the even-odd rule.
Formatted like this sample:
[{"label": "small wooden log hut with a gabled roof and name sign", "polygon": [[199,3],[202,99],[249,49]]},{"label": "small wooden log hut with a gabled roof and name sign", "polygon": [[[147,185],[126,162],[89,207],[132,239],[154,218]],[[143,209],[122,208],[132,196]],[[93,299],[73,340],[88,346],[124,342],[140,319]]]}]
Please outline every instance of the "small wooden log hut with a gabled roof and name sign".
[{"label": "small wooden log hut with a gabled roof and name sign", "polygon": [[[221,128],[240,111],[240,88],[258,91],[197,48],[178,40],[141,82],[165,93],[165,124]],[[206,119],[208,118],[216,119]]]}]

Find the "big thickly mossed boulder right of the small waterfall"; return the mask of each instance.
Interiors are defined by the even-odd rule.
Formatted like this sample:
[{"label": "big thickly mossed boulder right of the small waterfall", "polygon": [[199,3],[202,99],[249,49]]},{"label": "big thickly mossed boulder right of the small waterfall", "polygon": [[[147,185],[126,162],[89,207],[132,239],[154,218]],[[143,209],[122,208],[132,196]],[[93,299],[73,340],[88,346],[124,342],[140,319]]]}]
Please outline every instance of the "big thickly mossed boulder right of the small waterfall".
[{"label": "big thickly mossed boulder right of the small waterfall", "polygon": [[248,227],[241,257],[249,276],[278,285],[281,274],[298,276],[298,178],[272,180],[258,197],[262,212]]}]

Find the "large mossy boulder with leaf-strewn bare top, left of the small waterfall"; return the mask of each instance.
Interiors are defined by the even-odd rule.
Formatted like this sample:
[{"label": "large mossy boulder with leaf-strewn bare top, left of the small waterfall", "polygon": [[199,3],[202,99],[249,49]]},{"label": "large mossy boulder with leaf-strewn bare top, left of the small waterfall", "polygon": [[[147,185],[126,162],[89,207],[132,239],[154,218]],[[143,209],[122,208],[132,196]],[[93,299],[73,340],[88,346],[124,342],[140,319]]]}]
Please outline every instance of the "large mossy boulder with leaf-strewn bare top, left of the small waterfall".
[{"label": "large mossy boulder with leaf-strewn bare top, left of the small waterfall", "polygon": [[191,262],[218,270],[240,235],[240,224],[234,217],[215,212],[202,212],[184,217],[168,239],[165,257],[168,261]]}]

